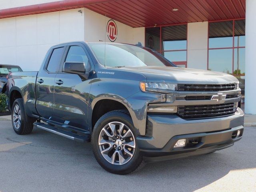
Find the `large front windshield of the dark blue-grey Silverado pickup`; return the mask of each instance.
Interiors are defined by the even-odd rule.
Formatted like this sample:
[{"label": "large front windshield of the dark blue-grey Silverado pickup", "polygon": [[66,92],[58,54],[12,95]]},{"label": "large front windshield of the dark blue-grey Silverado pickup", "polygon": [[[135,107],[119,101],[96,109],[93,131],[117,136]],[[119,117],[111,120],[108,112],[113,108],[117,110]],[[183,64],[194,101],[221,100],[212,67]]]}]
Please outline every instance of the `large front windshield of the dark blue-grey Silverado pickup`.
[{"label": "large front windshield of the dark blue-grey Silverado pickup", "polygon": [[89,44],[89,46],[100,64],[108,67],[175,66],[172,62],[148,48],[127,44]]}]

